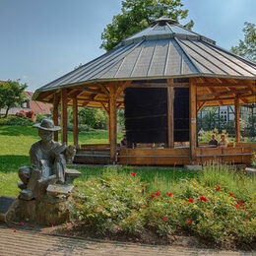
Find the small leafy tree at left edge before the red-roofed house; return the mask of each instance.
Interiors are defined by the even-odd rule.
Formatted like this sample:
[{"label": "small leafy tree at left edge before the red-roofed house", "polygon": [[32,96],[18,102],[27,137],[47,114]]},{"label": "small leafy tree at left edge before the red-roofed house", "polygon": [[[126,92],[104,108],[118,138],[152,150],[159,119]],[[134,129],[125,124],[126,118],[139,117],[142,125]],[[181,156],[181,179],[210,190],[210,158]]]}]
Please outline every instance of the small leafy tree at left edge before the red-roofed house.
[{"label": "small leafy tree at left edge before the red-roofed house", "polygon": [[6,108],[5,116],[11,107],[20,106],[27,101],[25,89],[27,84],[20,84],[18,81],[8,80],[0,83],[0,108]]}]

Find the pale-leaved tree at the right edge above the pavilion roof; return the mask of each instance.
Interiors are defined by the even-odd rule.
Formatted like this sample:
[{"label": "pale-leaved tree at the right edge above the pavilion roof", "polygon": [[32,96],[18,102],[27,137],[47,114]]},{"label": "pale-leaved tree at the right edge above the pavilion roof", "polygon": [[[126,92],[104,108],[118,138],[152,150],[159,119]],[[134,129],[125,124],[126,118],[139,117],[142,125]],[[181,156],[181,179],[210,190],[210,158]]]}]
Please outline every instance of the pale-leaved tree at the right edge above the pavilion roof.
[{"label": "pale-leaved tree at the right edge above the pavilion roof", "polygon": [[255,24],[244,23],[244,40],[239,40],[237,46],[232,46],[231,51],[235,54],[256,62],[256,28]]}]

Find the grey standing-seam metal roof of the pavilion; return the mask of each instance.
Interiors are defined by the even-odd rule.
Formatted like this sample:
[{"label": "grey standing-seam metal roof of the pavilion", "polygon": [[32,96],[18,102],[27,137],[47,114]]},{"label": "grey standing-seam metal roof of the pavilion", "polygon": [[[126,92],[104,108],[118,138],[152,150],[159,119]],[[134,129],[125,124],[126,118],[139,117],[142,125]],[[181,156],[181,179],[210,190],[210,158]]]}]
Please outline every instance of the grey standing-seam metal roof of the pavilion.
[{"label": "grey standing-seam metal roof of the pavilion", "polygon": [[109,52],[35,93],[106,81],[218,77],[256,80],[256,63],[177,22],[161,18]]}]

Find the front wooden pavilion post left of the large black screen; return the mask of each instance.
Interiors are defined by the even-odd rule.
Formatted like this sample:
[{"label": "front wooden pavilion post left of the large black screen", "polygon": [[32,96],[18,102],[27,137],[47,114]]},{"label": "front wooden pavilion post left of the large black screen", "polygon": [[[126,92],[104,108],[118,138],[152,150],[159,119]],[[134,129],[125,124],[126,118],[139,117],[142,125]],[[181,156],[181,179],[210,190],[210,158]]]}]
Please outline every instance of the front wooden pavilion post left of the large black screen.
[{"label": "front wooden pavilion post left of the large black screen", "polygon": [[109,87],[110,160],[116,161],[116,86]]}]

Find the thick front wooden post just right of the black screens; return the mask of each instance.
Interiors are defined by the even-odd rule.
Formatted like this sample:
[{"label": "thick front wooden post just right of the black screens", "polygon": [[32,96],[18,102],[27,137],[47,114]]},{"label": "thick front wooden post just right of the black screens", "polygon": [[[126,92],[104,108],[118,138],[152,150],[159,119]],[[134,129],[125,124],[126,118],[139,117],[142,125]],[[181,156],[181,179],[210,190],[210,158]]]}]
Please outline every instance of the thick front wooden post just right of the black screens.
[{"label": "thick front wooden post just right of the black screens", "polygon": [[197,158],[197,88],[195,79],[189,79],[189,141],[190,160]]}]

